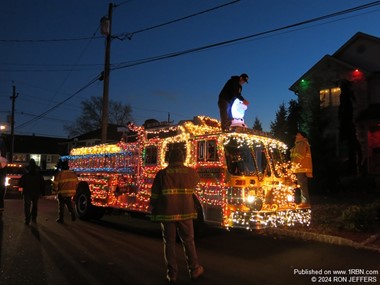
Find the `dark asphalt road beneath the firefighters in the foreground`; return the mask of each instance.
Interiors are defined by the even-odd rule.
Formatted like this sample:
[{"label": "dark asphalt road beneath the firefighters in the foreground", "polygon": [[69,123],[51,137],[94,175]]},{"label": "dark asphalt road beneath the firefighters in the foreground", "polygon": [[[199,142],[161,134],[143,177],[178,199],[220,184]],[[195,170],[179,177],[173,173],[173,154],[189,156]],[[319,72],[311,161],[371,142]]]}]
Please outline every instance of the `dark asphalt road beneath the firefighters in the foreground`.
[{"label": "dark asphalt road beneath the firefighters in the foreground", "polygon": [[[166,284],[158,224],[67,215],[61,225],[56,217],[57,202],[41,199],[37,224],[26,226],[22,200],[5,201],[0,284]],[[197,248],[204,276],[189,280],[178,244],[178,284],[380,284],[380,253],[366,249],[219,229],[208,229]]]}]

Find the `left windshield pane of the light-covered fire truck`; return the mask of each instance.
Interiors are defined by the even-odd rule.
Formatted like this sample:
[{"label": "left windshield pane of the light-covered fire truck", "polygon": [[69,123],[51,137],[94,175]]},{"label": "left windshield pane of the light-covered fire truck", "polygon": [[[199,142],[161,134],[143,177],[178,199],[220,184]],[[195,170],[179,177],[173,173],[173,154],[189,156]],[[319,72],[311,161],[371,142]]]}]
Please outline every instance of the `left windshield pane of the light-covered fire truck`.
[{"label": "left windshield pane of the light-covered fire truck", "polygon": [[236,140],[230,140],[224,149],[229,173],[232,175],[254,175],[257,173],[248,145],[239,145]]}]

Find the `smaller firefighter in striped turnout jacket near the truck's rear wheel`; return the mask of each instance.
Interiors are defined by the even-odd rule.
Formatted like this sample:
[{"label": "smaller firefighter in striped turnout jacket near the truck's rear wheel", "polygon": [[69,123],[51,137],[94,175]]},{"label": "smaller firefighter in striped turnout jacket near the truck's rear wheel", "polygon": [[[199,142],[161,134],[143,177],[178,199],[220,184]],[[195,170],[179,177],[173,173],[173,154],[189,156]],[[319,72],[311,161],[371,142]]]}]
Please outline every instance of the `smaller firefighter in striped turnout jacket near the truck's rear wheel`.
[{"label": "smaller firefighter in striped turnout jacket near the truck's rear wheel", "polygon": [[58,199],[58,219],[56,221],[63,224],[65,206],[67,206],[71,214],[71,220],[76,220],[72,198],[75,196],[78,177],[72,170],[69,170],[67,160],[61,162],[61,169],[62,170],[54,178],[54,189]]}]

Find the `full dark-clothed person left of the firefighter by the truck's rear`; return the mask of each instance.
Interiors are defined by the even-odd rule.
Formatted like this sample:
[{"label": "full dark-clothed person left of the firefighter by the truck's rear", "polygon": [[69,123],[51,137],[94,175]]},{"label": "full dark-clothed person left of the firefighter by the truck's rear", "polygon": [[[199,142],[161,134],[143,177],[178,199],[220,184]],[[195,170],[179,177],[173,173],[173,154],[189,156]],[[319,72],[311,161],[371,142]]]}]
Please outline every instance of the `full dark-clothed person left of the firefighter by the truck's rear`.
[{"label": "full dark-clothed person left of the firefighter by the truck's rear", "polygon": [[44,195],[45,181],[34,159],[29,161],[28,172],[20,179],[24,198],[25,224],[37,223],[38,199]]}]

